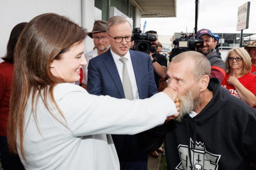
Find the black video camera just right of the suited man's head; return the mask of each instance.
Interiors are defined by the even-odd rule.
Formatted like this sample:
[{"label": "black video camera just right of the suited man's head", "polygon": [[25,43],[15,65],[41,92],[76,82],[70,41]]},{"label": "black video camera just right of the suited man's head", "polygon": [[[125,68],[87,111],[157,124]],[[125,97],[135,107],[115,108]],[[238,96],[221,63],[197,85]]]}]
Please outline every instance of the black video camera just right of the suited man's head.
[{"label": "black video camera just right of the suited man's head", "polygon": [[156,41],[156,35],[154,34],[144,34],[140,30],[140,28],[134,28],[132,30],[133,40],[135,42],[133,49],[139,52],[145,52],[146,54],[150,54],[151,51],[151,42]]}]

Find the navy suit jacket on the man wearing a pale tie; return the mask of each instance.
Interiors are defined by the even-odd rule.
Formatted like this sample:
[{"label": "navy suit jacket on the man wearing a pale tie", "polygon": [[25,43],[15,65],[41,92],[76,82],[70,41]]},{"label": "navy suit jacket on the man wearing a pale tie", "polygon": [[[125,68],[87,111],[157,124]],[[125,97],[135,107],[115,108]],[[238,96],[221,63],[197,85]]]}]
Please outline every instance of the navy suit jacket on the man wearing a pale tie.
[{"label": "navy suit jacket on the man wearing a pale tie", "polygon": [[[139,98],[145,99],[157,93],[152,60],[143,52],[130,50],[132,66],[138,87]],[[87,91],[90,94],[125,98],[121,78],[110,49],[90,59],[88,64]],[[114,109],[114,108],[113,108]],[[122,154],[126,135],[112,135],[117,154]]]}]

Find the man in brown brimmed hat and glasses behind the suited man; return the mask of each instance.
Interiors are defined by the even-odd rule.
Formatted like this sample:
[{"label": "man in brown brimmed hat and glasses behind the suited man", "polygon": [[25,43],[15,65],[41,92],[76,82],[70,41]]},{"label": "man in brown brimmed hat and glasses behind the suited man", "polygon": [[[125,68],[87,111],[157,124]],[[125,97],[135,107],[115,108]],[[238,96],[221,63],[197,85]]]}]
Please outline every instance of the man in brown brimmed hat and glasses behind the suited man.
[{"label": "man in brown brimmed hat and glasses behind the suited man", "polygon": [[[88,36],[93,39],[95,49],[85,54],[85,59],[87,63],[89,63],[90,59],[100,55],[103,52],[106,52],[110,48],[110,42],[107,40],[108,35],[106,33],[106,23],[107,21],[95,21],[92,28],[92,32],[88,32]],[[87,90],[88,64],[82,66],[82,69],[82,87],[84,87]]]}]

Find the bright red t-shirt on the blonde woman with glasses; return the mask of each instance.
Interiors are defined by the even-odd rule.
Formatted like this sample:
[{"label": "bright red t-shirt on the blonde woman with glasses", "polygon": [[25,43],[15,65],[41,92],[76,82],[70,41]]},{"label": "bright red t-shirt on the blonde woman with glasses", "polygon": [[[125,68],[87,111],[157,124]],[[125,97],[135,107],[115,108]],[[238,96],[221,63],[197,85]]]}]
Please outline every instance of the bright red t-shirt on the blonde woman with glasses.
[{"label": "bright red t-shirt on the blonde woman with glasses", "polygon": [[[229,77],[229,73],[226,73],[226,76],[225,76],[224,80],[222,81],[221,86],[228,89],[233,96],[240,98],[239,94],[235,90],[235,87],[231,84],[227,84],[228,77]],[[251,73],[247,73],[244,76],[238,78],[238,80],[239,80],[240,83],[242,83],[242,85],[246,89],[248,89],[254,95],[256,95],[256,75],[253,75]]]}]

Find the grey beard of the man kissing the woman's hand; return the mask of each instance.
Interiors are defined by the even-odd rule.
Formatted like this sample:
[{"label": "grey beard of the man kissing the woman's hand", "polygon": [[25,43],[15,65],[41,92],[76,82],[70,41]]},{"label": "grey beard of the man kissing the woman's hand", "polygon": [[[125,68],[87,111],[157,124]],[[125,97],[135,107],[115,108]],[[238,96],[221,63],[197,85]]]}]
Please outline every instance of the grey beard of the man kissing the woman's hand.
[{"label": "grey beard of the man kissing the woman's hand", "polygon": [[174,118],[174,120],[178,122],[181,122],[182,118],[190,111],[196,111],[202,104],[199,94],[194,97],[191,90],[189,90],[184,96],[178,96],[178,99],[181,102],[180,114]]}]

